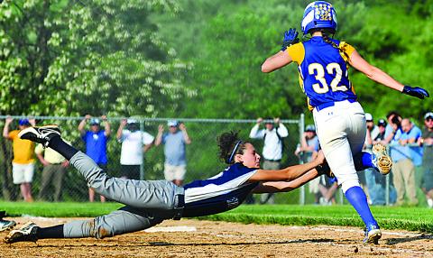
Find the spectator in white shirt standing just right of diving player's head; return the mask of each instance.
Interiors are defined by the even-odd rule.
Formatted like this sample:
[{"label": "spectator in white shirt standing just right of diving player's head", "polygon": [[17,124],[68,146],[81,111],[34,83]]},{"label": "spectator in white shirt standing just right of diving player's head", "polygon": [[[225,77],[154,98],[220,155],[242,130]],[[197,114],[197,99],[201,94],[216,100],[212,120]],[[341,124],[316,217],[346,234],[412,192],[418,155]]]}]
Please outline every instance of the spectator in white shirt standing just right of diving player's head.
[{"label": "spectator in white shirt standing just right of diving player's head", "polygon": [[[268,119],[264,123],[264,129],[260,129],[260,124],[263,123],[263,118],[257,119],[257,124],[253,126],[250,132],[250,138],[263,139],[263,170],[280,170],[282,157],[282,138],[287,137],[289,132],[286,126],[281,123],[280,118],[275,117]],[[264,193],[261,195],[260,203],[274,203],[272,193]]]}]

